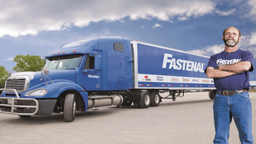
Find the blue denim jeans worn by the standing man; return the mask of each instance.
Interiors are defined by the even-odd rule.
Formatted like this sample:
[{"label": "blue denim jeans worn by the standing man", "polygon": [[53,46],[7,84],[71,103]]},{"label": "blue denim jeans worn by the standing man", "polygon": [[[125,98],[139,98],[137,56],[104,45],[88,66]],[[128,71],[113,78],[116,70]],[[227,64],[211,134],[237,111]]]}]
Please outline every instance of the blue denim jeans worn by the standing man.
[{"label": "blue denim jeans worn by the standing man", "polygon": [[252,105],[248,92],[228,96],[215,94],[213,113],[216,132],[213,143],[228,143],[229,125],[232,117],[238,129],[241,143],[253,143]]}]

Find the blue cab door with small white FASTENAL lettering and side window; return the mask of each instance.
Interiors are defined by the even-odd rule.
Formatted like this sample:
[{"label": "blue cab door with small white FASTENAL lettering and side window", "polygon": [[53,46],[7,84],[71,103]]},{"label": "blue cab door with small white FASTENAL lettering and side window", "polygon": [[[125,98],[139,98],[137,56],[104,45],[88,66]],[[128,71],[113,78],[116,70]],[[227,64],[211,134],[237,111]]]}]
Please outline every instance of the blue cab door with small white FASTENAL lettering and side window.
[{"label": "blue cab door with small white FASTENAL lettering and side window", "polygon": [[83,87],[86,91],[101,90],[101,56],[87,55],[83,68]]}]

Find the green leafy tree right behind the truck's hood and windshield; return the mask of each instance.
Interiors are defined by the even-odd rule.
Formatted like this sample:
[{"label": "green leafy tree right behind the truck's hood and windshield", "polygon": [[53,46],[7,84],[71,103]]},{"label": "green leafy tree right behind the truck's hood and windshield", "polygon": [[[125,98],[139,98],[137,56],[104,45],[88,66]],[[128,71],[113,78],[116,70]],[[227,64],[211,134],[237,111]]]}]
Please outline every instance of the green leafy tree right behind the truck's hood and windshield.
[{"label": "green leafy tree right behind the truck's hood and windshield", "polygon": [[41,59],[39,55],[17,55],[13,61],[17,64],[12,69],[17,72],[40,71],[44,67],[44,59]]}]

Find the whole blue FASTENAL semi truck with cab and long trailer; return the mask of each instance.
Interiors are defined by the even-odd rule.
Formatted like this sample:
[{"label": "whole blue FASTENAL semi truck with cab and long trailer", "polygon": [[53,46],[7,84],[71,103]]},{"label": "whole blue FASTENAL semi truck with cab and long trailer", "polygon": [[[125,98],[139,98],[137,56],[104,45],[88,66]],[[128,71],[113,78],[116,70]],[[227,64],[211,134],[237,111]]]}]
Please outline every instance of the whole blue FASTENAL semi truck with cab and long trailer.
[{"label": "whole blue FASTENAL semi truck with cab and long trailer", "polygon": [[[59,46],[48,53],[43,71],[14,73],[0,95],[0,113],[29,117],[106,107],[156,107],[183,97],[184,90],[213,90],[204,69],[210,57],[164,46],[100,37]],[[209,93],[212,97],[213,93]]]}]

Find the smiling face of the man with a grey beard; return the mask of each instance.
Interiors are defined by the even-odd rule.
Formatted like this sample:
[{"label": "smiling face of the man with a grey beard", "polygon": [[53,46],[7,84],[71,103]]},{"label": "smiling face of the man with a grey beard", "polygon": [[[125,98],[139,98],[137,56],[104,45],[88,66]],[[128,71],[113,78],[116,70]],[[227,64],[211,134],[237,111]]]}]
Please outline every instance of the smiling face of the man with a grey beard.
[{"label": "smiling face of the man with a grey beard", "polygon": [[240,41],[239,31],[236,28],[228,28],[222,38],[226,46],[234,47]]}]

